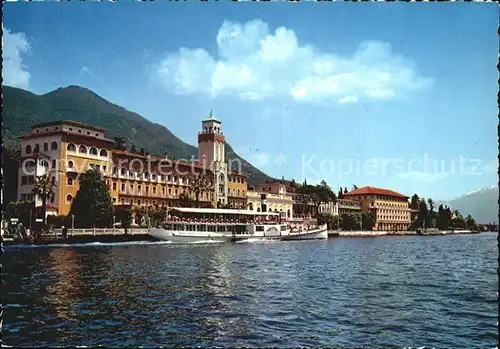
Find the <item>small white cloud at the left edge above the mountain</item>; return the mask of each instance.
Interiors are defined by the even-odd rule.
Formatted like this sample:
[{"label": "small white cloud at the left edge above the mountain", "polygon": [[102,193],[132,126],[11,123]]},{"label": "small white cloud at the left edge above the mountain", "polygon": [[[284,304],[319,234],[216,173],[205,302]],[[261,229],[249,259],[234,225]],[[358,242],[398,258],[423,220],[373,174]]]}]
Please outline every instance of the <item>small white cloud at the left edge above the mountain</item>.
[{"label": "small white cloud at the left edge above the mountain", "polygon": [[28,89],[30,73],[23,64],[22,55],[29,52],[30,44],[24,33],[12,33],[2,26],[3,84]]}]

